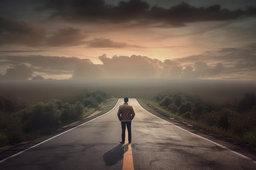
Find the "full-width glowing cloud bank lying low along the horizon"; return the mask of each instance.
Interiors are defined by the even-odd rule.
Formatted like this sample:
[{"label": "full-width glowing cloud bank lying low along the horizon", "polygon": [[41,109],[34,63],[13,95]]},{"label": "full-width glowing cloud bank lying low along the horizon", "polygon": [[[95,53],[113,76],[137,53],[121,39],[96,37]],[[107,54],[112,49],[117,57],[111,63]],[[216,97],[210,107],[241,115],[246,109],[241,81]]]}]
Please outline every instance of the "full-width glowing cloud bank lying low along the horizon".
[{"label": "full-width glowing cloud bank lying low along the horizon", "polygon": [[[1,56],[1,79],[29,79],[36,75],[70,75],[92,78],[189,78],[256,80],[256,45],[220,49],[198,56],[160,61],[147,56],[99,56],[102,64],[89,59],[54,56]],[[9,66],[9,68],[6,68]],[[3,73],[3,72],[2,72]],[[35,75],[34,78],[35,79]],[[39,78],[39,77],[38,77]]]}]

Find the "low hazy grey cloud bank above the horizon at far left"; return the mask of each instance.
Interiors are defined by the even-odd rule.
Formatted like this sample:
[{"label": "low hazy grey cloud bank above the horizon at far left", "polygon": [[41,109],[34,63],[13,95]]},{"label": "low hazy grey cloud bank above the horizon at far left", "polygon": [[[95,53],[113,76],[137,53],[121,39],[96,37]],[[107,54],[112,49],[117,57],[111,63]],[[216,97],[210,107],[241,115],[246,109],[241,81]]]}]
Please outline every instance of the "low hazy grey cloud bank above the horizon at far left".
[{"label": "low hazy grey cloud bank above the horizon at far left", "polygon": [[[26,68],[29,68],[29,70],[32,71],[31,76],[26,77],[26,79],[31,78],[33,73],[55,76],[73,75],[73,79],[101,78],[98,66],[93,64],[89,59],[79,59],[77,57],[29,55],[2,56],[0,60],[0,67],[7,65],[10,67],[7,69],[8,74],[4,75],[2,79],[19,79],[18,77],[21,76],[18,74],[18,68],[20,68],[20,64],[22,65],[22,68],[26,66]],[[13,73],[13,78],[11,78],[9,75],[10,73]],[[17,76],[15,77],[14,75],[16,73]],[[37,79],[38,77],[33,78]]]}]

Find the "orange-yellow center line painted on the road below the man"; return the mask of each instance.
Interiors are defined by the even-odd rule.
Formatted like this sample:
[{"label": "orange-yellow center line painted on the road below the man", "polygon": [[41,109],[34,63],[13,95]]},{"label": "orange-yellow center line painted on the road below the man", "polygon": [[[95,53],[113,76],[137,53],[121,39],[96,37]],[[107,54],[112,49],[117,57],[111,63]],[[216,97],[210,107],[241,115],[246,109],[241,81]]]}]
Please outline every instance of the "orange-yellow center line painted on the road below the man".
[{"label": "orange-yellow center line painted on the road below the man", "polygon": [[128,131],[125,133],[123,170],[134,170],[132,158],[132,145],[128,143]]}]

